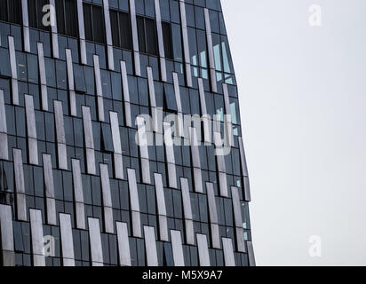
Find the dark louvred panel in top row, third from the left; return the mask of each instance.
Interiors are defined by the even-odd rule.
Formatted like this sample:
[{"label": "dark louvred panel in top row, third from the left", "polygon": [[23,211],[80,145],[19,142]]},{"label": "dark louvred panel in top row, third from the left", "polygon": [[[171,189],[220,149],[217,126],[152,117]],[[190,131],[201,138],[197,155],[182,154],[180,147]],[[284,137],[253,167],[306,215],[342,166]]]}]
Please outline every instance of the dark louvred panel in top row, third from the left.
[{"label": "dark louvred panel in top row, third from the left", "polygon": [[77,7],[75,0],[56,0],[57,32],[66,36],[78,36]]}]

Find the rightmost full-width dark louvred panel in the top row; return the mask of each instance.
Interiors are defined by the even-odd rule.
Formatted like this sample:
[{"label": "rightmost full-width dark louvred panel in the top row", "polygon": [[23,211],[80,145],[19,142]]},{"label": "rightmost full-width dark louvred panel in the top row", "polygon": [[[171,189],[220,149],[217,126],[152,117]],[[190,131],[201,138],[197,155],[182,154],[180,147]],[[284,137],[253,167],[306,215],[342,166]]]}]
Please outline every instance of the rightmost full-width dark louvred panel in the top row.
[{"label": "rightmost full-width dark louvred panel in the top row", "polygon": [[139,51],[151,55],[158,55],[155,20],[138,16],[137,26],[139,34]]}]

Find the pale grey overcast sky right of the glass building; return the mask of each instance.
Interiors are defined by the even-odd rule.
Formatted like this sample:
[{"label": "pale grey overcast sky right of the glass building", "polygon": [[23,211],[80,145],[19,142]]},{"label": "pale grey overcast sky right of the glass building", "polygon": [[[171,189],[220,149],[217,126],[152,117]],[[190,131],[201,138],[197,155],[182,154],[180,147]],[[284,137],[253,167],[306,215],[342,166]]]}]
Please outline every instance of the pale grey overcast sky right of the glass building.
[{"label": "pale grey overcast sky right of the glass building", "polygon": [[[221,3],[257,264],[365,265],[366,1]],[[309,24],[312,4],[322,27]],[[321,257],[309,255],[311,236]]]}]

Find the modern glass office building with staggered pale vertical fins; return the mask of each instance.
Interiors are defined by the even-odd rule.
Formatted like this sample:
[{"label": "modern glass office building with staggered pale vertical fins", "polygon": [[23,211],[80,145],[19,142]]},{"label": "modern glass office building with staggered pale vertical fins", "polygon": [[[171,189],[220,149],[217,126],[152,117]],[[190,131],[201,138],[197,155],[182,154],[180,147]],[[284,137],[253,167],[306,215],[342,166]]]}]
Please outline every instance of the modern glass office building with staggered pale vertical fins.
[{"label": "modern glass office building with staggered pale vertical fins", "polygon": [[219,0],[0,0],[1,264],[255,265],[249,186]]}]

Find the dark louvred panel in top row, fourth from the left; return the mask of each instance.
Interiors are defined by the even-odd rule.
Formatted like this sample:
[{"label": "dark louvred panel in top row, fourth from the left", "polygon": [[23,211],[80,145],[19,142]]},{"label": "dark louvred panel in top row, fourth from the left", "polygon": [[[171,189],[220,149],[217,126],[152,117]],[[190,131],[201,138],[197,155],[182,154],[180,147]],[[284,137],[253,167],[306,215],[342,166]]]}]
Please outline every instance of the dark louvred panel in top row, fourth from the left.
[{"label": "dark louvred panel in top row, fourth from the left", "polygon": [[106,28],[101,6],[84,4],[85,39],[97,43],[106,43]]}]

